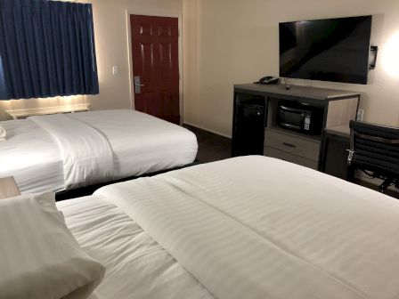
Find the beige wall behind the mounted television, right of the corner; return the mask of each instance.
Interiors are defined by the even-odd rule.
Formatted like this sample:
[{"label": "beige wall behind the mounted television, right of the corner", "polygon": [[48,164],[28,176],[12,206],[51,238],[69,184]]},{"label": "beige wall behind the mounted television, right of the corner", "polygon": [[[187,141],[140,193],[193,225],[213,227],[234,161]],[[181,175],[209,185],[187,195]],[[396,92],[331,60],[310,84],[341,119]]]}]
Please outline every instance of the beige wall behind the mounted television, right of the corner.
[{"label": "beige wall behind the mounted television, right of the corner", "polygon": [[380,49],[370,85],[307,84],[362,92],[364,120],[399,125],[398,0],[183,0],[184,122],[231,135],[232,85],[279,74],[279,22],[366,14]]}]

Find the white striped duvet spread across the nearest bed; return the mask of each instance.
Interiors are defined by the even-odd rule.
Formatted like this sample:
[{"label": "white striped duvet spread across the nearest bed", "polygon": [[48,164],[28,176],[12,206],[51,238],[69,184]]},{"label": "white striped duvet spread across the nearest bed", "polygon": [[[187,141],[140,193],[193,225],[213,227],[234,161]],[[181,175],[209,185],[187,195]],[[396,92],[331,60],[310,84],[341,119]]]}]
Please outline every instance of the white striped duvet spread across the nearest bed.
[{"label": "white striped duvet spread across the nearest bed", "polygon": [[399,202],[302,166],[232,158],[95,196],[217,298],[399,297]]}]

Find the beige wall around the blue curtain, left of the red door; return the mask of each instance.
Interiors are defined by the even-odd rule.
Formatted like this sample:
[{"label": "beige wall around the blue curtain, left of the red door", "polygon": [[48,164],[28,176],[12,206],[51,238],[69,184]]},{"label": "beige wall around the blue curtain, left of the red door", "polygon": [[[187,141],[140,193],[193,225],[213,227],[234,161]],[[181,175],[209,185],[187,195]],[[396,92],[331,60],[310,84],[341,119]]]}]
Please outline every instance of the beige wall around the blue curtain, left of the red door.
[{"label": "beige wall around the blue curtain, left of the red door", "polygon": [[[51,107],[69,103],[90,102],[93,109],[129,109],[130,82],[127,48],[126,10],[136,14],[177,15],[182,13],[182,0],[79,0],[92,3],[94,34],[100,94],[67,98],[0,101],[0,120],[5,109]],[[118,76],[112,75],[118,66]]]}]

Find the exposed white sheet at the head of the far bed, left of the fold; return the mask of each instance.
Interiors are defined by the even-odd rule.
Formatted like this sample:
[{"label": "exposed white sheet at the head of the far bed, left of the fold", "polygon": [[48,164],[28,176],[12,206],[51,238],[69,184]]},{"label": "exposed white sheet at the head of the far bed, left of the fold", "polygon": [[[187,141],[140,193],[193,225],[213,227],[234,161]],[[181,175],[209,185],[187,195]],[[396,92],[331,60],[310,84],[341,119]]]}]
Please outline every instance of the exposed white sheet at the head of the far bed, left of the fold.
[{"label": "exposed white sheet at the head of the far bed, left of the fold", "polygon": [[64,189],[57,144],[28,119],[0,122],[7,141],[0,141],[0,177],[13,176],[23,193]]}]

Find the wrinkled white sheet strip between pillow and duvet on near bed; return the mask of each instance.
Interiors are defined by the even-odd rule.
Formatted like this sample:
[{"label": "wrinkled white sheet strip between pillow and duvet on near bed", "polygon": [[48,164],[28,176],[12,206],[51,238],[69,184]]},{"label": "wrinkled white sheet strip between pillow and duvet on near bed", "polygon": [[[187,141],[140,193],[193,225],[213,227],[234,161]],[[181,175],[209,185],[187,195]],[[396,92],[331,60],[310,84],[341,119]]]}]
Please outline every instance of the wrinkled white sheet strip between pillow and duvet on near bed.
[{"label": "wrinkled white sheet strip between pillow and duvet on near bed", "polygon": [[94,298],[214,298],[136,222],[105,198],[70,199],[57,206],[79,245],[106,267]]}]

